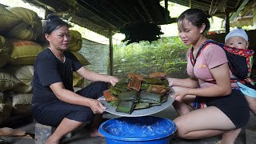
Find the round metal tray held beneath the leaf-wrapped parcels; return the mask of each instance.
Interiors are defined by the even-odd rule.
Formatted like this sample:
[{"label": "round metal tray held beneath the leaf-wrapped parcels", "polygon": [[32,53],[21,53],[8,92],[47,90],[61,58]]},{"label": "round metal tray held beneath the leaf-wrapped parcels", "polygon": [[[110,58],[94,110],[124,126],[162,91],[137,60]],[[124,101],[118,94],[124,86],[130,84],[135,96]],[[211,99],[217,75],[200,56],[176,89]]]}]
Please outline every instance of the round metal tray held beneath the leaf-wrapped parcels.
[{"label": "round metal tray held beneath the leaf-wrapped parcels", "polygon": [[99,98],[99,100],[100,100],[100,102],[102,102],[102,104],[104,106],[106,106],[106,112],[108,112],[110,114],[119,115],[122,117],[142,117],[142,116],[146,116],[146,115],[150,115],[150,114],[155,114],[162,110],[165,110],[168,106],[170,106],[174,102],[174,98],[170,98],[170,96],[168,96],[167,101],[162,103],[161,106],[152,106],[147,109],[134,110],[131,114],[126,114],[126,113],[120,113],[120,112],[115,111],[116,108],[114,106],[110,106],[110,104],[105,101],[104,96]]}]

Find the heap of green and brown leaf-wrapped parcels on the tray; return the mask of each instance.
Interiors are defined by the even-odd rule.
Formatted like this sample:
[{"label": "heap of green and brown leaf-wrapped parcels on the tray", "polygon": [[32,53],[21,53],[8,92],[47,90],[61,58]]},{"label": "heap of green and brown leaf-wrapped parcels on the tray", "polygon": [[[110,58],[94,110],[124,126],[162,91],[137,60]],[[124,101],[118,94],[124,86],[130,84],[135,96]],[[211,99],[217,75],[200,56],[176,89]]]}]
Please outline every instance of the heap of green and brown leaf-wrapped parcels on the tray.
[{"label": "heap of green and brown leaf-wrapped parcels on the tray", "polygon": [[107,102],[116,107],[116,111],[131,114],[134,110],[161,106],[167,101],[169,93],[166,74],[156,72],[149,76],[127,74],[103,94]]}]

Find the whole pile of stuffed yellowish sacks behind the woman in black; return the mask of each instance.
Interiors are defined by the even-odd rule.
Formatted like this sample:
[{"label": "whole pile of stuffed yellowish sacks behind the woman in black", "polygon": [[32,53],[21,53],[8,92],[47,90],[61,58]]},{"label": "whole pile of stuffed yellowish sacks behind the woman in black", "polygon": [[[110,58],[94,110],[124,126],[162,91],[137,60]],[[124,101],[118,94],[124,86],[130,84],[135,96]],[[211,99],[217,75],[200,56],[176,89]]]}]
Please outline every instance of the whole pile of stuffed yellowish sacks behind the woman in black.
[{"label": "whole pile of stuffed yellowish sacks behind the woman in black", "polygon": [[[34,62],[43,50],[42,18],[23,7],[0,6],[0,124],[12,114],[30,114]],[[78,53],[82,35],[70,31],[69,50],[82,65],[90,62]],[[84,79],[74,73],[73,86],[84,86]]]}]

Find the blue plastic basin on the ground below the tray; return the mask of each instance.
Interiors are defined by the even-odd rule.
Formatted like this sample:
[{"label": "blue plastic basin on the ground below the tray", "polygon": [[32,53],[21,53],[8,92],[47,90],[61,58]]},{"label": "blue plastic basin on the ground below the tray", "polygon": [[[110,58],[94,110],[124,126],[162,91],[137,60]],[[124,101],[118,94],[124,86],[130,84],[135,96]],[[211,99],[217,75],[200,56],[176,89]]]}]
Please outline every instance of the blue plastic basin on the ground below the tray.
[{"label": "blue plastic basin on the ground below the tray", "polygon": [[108,144],[167,144],[176,130],[170,119],[152,116],[114,118],[99,127]]}]

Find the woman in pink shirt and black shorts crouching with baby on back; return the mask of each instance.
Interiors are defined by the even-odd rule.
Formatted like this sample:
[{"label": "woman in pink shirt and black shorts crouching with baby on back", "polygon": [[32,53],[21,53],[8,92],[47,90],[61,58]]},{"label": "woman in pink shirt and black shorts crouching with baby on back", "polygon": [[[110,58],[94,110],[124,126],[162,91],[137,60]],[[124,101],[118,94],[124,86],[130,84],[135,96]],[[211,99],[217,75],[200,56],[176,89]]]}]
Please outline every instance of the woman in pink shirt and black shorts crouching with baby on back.
[{"label": "woman in pink shirt and black shorts crouching with baby on back", "polygon": [[[196,139],[222,134],[221,143],[234,143],[242,126],[249,120],[246,98],[230,83],[233,77],[224,50],[208,45],[198,53],[207,41],[210,29],[209,15],[202,10],[189,9],[178,17],[179,37],[185,45],[191,45],[187,54],[187,73],[190,78],[168,78],[175,90],[174,108],[181,116],[174,119],[181,138]],[[215,80],[216,84],[209,81]],[[190,111],[193,103],[202,109]]]}]

